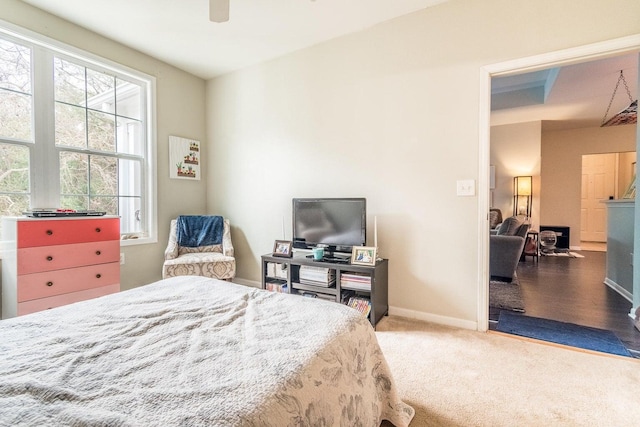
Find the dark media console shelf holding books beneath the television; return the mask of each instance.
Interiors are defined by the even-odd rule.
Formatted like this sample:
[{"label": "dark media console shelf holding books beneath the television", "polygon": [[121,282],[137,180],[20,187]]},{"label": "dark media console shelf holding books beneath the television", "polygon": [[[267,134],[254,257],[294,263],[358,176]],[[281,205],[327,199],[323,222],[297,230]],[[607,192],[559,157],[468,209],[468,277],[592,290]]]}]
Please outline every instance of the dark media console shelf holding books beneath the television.
[{"label": "dark media console shelf holding books beneath the television", "polygon": [[[303,278],[300,277],[300,269]],[[305,277],[315,280],[305,280]],[[361,279],[361,280],[358,280]],[[262,256],[262,289],[307,295],[346,304],[349,298],[368,300],[369,322],[376,324],[389,312],[389,260],[375,266],[314,261],[304,254],[292,258]],[[301,283],[305,282],[305,283]],[[370,282],[370,286],[369,286]]]}]

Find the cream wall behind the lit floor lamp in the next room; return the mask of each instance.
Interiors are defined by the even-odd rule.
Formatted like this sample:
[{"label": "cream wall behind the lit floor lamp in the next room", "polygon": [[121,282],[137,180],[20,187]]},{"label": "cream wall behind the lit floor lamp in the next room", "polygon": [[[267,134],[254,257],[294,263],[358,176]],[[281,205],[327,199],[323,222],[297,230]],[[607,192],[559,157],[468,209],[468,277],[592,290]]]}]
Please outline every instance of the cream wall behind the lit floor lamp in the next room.
[{"label": "cream wall behind the lit floor lamp in the next room", "polygon": [[532,177],[531,228],[540,226],[540,144],[542,122],[491,127],[490,163],[496,167],[493,207],[513,215],[513,178]]}]

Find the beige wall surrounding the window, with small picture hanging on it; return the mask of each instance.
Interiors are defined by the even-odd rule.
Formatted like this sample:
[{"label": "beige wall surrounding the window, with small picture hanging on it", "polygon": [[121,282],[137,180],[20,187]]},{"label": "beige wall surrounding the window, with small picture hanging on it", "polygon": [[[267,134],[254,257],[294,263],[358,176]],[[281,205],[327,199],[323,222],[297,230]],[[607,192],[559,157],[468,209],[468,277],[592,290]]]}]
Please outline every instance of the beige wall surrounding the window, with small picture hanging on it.
[{"label": "beige wall surrounding the window, with small picture hanging on it", "polygon": [[159,280],[170,219],[181,213],[204,213],[206,208],[206,180],[169,179],[168,153],[169,135],[200,140],[204,142],[205,155],[209,150],[205,138],[204,80],[18,0],[2,0],[0,19],[156,77],[158,243],[122,248],[126,264],[121,269],[121,288]]}]

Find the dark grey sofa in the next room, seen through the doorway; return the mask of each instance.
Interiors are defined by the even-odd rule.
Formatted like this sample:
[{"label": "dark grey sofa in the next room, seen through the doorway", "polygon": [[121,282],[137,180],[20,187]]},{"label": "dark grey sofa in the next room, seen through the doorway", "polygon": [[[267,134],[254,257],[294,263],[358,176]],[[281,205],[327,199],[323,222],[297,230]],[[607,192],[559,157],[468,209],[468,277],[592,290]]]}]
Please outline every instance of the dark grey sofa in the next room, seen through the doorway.
[{"label": "dark grey sofa in the next room, seen through the doorway", "polygon": [[491,280],[512,282],[524,242],[529,231],[529,223],[522,217],[512,216],[491,231],[489,236],[489,275]]}]

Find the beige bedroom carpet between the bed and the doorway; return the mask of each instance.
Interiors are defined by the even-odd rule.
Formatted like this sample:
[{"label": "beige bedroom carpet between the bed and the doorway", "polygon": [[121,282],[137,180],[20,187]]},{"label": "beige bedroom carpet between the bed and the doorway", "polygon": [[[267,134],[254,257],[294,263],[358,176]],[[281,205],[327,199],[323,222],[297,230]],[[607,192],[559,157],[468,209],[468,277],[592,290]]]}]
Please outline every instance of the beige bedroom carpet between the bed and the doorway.
[{"label": "beige bedroom carpet between the bed and the doorway", "polygon": [[376,335],[402,399],[416,410],[411,427],[640,422],[639,359],[394,316]]}]

